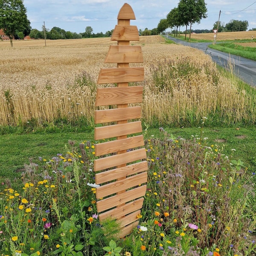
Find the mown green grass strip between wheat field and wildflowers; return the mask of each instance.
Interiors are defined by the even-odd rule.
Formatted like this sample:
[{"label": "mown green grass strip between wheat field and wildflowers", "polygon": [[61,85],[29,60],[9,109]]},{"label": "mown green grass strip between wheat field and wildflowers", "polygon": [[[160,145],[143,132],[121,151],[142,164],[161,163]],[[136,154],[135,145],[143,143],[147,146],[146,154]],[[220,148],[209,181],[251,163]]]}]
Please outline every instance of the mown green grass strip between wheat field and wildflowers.
[{"label": "mown green grass strip between wheat field and wildflowers", "polygon": [[[241,159],[250,172],[256,172],[256,127],[244,126],[235,127],[206,127],[206,128],[168,128],[170,137],[183,137],[190,139],[202,137],[208,138],[209,144],[218,145],[223,148],[223,153],[232,153],[235,160]],[[172,134],[172,135],[171,135]],[[158,128],[149,128],[145,132],[145,138],[161,137]],[[239,137],[240,136],[240,137]],[[76,141],[76,146],[85,140],[93,141],[92,132],[55,132],[42,134],[7,134],[0,135],[0,181],[5,182],[6,178],[11,182],[19,183],[24,164],[29,164],[29,159],[34,162],[38,157],[51,159],[58,153],[65,154],[69,140]],[[224,140],[224,142],[218,142]],[[198,142],[200,142],[198,140]],[[236,149],[236,151],[231,151]]]}]

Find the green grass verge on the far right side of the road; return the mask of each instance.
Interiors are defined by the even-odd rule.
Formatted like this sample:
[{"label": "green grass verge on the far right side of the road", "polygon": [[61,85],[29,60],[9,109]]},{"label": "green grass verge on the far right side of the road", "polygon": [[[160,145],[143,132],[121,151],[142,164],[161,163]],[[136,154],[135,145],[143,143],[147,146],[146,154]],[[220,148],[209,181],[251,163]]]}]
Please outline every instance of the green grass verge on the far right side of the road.
[{"label": "green grass verge on the far right side of the road", "polygon": [[[240,42],[244,42],[244,41],[240,41]],[[233,42],[211,44],[208,47],[212,49],[216,49],[221,52],[227,52],[233,55],[237,55],[243,58],[256,61],[256,47],[243,47]]]}]

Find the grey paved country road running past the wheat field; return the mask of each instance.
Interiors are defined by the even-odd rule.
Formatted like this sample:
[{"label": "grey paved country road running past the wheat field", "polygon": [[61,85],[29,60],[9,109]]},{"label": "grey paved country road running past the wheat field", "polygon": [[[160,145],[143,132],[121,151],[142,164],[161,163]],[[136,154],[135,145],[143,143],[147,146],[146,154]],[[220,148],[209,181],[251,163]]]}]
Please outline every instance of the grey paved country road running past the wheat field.
[{"label": "grey paved country road running past the wheat field", "polygon": [[213,61],[224,68],[228,67],[228,63],[231,61],[234,66],[234,73],[236,76],[247,84],[256,87],[256,61],[251,61],[246,58],[208,48],[207,46],[212,43],[189,43],[171,36],[166,37],[175,41],[177,44],[183,44],[185,46],[190,46],[204,51],[212,57]]}]

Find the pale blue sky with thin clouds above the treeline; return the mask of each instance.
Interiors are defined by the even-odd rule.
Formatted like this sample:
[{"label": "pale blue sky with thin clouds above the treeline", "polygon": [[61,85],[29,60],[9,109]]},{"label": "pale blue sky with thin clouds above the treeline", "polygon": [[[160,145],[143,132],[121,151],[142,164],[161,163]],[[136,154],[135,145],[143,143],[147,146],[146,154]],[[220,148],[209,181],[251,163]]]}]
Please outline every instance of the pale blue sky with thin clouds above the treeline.
[{"label": "pale blue sky with thin clouds above the treeline", "polygon": [[[131,25],[138,29],[156,28],[160,19],[177,7],[179,0],[23,0],[32,29],[42,30],[56,26],[65,31],[85,32],[87,26],[93,33],[114,29],[117,15],[124,3],[128,3],[136,20]],[[230,20],[247,20],[248,30],[256,28],[256,1],[254,0],[205,0],[207,18],[195,23],[192,29],[209,29],[218,21],[227,24]],[[181,31],[185,28],[181,28]]]}]

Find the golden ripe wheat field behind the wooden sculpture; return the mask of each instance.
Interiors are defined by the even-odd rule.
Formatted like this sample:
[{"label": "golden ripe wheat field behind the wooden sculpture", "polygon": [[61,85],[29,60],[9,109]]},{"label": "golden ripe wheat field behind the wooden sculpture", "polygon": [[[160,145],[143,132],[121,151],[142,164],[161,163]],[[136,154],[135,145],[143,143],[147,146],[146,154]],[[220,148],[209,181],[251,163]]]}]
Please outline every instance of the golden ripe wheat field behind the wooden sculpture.
[{"label": "golden ripe wheat field behind the wooden sculpture", "polygon": [[[10,42],[0,42],[0,125],[19,125],[31,119],[39,124],[57,118],[92,119],[99,70],[116,67],[104,63],[109,45],[116,41],[87,38],[47,41],[47,47],[44,44],[40,40],[14,41],[14,48],[10,48]],[[211,111],[218,110],[235,120],[251,111],[244,109],[245,100],[250,98],[244,91],[238,92],[232,79],[219,75],[204,52],[165,44],[161,36],[140,37],[140,41],[131,42],[134,44],[141,45],[143,51],[144,62],[136,66],[145,67],[142,107],[143,119],[149,125],[155,119],[160,123],[183,122],[189,118],[188,111],[199,120]],[[168,65],[176,67],[184,60],[197,67],[198,73],[168,78]],[[217,85],[209,70],[220,76]],[[158,72],[166,72],[166,88],[172,86],[172,93],[166,88],[156,89],[153,75]],[[86,84],[88,80],[90,84]]]}]

